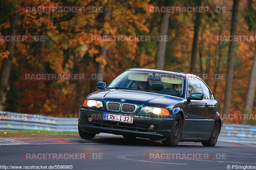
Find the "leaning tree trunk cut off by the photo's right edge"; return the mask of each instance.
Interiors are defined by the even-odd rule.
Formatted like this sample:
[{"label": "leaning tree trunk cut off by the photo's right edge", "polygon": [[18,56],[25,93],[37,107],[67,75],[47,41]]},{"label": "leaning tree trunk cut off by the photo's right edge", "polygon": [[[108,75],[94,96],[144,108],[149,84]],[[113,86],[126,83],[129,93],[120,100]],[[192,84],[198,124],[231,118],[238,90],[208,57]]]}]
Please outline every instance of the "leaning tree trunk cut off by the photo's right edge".
[{"label": "leaning tree trunk cut off by the photo's right edge", "polygon": [[[244,113],[246,113],[246,114],[252,113],[252,107],[253,107],[255,92],[256,92],[256,81],[255,80],[256,80],[256,47],[255,47],[255,52],[254,52],[254,59],[253,59],[253,64],[252,64],[250,82],[249,82],[245,106],[244,106]],[[246,120],[243,120],[242,123],[243,124],[246,123]]]}]

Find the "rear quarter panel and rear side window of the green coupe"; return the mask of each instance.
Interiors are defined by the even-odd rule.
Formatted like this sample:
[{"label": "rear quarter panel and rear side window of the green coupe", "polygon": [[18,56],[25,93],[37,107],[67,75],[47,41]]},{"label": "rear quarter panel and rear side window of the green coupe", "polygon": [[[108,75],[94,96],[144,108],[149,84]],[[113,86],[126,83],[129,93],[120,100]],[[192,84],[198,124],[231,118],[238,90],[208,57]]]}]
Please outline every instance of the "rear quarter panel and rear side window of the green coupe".
[{"label": "rear quarter panel and rear side window of the green coupe", "polygon": [[212,92],[207,87],[207,85],[202,80],[199,80],[199,82],[200,82],[200,85],[201,85],[201,87],[203,89],[203,94],[204,94],[204,98],[205,98],[204,99],[205,104],[208,105],[208,107],[207,107],[207,110],[208,110],[208,122],[207,122],[207,129],[206,129],[205,134],[206,135],[211,135],[212,127],[213,127],[213,124],[214,124],[214,121],[215,121],[214,117],[215,117],[215,114],[217,112],[218,101],[213,99]]}]

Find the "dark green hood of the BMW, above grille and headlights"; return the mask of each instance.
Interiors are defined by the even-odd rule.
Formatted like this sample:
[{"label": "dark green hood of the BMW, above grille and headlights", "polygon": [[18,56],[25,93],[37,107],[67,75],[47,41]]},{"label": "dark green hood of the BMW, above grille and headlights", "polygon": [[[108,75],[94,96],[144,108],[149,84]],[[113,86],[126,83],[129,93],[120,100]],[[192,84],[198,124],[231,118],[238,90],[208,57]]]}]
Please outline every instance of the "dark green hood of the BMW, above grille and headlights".
[{"label": "dark green hood of the BMW, above grille and headlights", "polygon": [[[156,106],[166,108],[174,102],[182,100],[180,97],[135,90],[105,89],[87,96],[87,99],[106,102],[130,103],[139,106]],[[120,100],[124,99],[125,102]]]}]

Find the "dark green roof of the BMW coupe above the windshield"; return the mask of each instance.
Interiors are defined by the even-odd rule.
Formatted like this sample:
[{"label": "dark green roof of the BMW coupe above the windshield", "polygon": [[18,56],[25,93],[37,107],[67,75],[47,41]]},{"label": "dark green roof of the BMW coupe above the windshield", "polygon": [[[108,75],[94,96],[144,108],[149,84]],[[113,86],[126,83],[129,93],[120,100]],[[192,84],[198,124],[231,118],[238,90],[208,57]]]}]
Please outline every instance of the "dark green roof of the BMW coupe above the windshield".
[{"label": "dark green roof of the BMW coupe above the windshield", "polygon": [[166,73],[166,74],[176,74],[176,75],[180,75],[181,77],[196,77],[199,78],[201,80],[200,77],[198,77],[195,74],[190,74],[190,73],[185,73],[185,72],[179,72],[179,71],[169,71],[169,70],[161,70],[161,69],[152,69],[152,68],[130,68],[128,70],[136,70],[136,71],[154,71],[154,72],[160,72],[160,73]]}]

